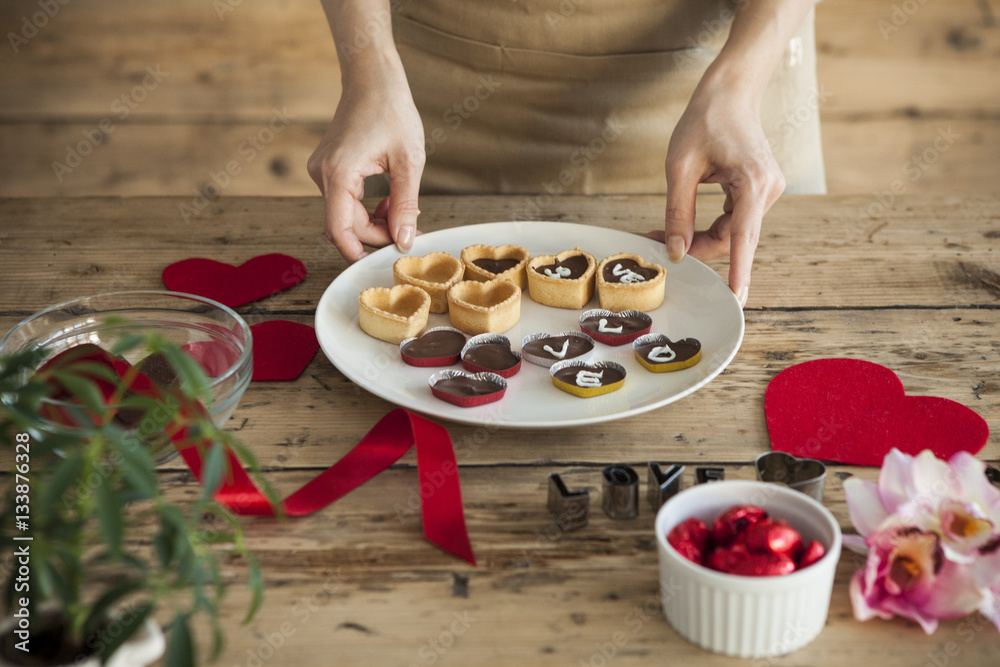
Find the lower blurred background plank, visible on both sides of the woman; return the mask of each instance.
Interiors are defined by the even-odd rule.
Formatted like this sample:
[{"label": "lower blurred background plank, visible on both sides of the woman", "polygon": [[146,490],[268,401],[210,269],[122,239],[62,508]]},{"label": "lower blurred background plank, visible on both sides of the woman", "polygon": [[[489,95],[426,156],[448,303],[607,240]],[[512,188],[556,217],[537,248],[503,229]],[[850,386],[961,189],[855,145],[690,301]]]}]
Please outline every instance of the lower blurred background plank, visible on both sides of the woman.
[{"label": "lower blurred background plank, visible on both sides of the woman", "polygon": [[[825,107],[820,113],[833,194],[867,194],[896,180],[910,194],[997,191],[1000,124],[995,120],[854,120],[831,117]],[[293,119],[272,136],[267,122],[220,126],[129,119],[102,138],[95,122],[0,124],[0,196],[194,197],[206,189],[225,196],[310,196],[319,190],[306,160],[325,127]],[[81,152],[87,154],[74,156]],[[230,162],[235,176],[226,174]],[[219,183],[224,187],[217,188]]]}]

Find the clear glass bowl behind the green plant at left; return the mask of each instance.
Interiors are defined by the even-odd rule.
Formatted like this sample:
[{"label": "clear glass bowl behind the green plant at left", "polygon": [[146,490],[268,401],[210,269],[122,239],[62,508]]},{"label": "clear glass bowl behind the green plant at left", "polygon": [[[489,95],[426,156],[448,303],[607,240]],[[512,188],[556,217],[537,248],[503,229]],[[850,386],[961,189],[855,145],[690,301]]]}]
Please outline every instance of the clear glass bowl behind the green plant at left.
[{"label": "clear glass bowl behind the green plant at left", "polygon": [[[209,378],[209,399],[204,407],[216,426],[225,424],[250,384],[253,341],[243,318],[211,299],[162,290],[111,292],[73,299],[18,323],[0,340],[0,355],[44,346],[46,353],[41,363],[45,363],[77,345],[89,343],[111,350],[125,336],[148,334],[196,351],[193,356],[201,357]],[[139,346],[122,356],[134,365],[146,354],[148,350]],[[58,406],[58,401],[51,403]],[[72,427],[50,421],[46,430],[72,432]],[[176,454],[169,440],[149,442],[157,463]]]}]

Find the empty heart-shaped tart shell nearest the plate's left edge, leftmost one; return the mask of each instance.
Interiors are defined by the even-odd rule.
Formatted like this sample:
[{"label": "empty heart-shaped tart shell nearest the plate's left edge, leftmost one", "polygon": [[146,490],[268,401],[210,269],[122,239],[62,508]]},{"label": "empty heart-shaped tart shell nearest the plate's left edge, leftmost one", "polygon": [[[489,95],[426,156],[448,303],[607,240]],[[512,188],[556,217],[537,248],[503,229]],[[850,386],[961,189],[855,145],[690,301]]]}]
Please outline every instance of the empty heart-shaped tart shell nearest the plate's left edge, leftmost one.
[{"label": "empty heart-shaped tart shell nearest the plate's left edge, leftmost one", "polygon": [[358,295],[358,324],[369,336],[399,345],[427,326],[431,298],[413,285],[369,287]]}]

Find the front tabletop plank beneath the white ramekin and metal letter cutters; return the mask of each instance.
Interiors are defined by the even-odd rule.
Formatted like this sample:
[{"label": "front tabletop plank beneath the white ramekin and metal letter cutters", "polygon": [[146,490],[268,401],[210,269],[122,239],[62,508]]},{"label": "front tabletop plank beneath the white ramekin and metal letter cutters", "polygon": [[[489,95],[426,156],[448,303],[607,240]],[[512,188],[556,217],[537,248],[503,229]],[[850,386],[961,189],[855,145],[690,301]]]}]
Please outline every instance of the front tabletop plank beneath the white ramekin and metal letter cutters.
[{"label": "front tabletop plank beneath the white ramekin and metal letter cutters", "polygon": [[[312,664],[335,642],[336,664],[427,664],[432,657],[443,664],[605,664],[591,661],[602,648],[615,650],[615,664],[648,665],[664,654],[679,664],[731,664],[685,642],[660,613],[652,512],[643,505],[638,518],[611,521],[593,504],[598,494],[590,525],[560,531],[545,509],[550,470],[563,471],[462,470],[476,568],[426,542],[417,512],[393,511],[414,492],[412,470],[383,473],[309,517],[246,520],[248,546],[265,573],[265,604],[248,626],[236,623],[247,602],[245,573],[230,564],[222,661],[248,664],[256,655],[266,662],[273,655],[281,664]],[[749,477],[746,468],[727,472]],[[850,473],[832,472],[826,504],[848,527],[837,473]],[[587,477],[596,475],[573,480],[594,486]],[[281,477],[288,487],[308,479]],[[167,488],[181,501],[196,492],[193,482],[175,477],[167,478]],[[1000,635],[976,617],[944,622],[933,636],[898,619],[854,621],[847,586],[859,564],[842,555],[827,627],[794,654],[795,664],[863,657],[919,665],[948,641],[960,646],[959,664],[989,664],[1000,649]],[[467,627],[454,624],[456,618]]]}]

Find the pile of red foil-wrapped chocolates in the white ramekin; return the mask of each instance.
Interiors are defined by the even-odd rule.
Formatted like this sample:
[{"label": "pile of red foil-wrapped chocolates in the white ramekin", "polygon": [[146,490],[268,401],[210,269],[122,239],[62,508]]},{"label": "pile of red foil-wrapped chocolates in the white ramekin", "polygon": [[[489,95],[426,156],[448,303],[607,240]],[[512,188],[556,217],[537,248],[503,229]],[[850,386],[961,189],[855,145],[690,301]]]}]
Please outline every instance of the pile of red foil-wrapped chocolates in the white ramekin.
[{"label": "pile of red foil-wrapped chocolates in the white ramekin", "polygon": [[670,531],[667,541],[690,561],[744,577],[791,574],[826,553],[815,540],[804,545],[799,531],[787,521],[771,519],[755,505],[730,507],[711,530],[700,519],[687,519]]}]

